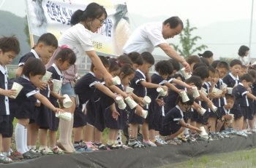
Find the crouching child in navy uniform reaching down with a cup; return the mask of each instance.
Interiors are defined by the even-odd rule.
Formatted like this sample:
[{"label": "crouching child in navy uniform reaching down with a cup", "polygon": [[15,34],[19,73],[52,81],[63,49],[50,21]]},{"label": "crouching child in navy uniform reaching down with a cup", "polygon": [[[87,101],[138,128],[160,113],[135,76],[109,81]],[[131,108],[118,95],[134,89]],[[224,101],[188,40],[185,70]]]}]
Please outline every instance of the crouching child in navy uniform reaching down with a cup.
[{"label": "crouching child in navy uniform reaching down with a cup", "polygon": [[200,132],[200,129],[187,124],[183,119],[184,113],[189,111],[195,100],[192,95],[187,94],[187,96],[189,97],[189,101],[185,103],[182,102],[182,98],[179,96],[176,101],[176,107],[172,108],[164,117],[163,128],[162,131],[160,131],[160,135],[166,136],[165,140],[168,144],[177,145],[173,138],[181,134],[184,128],[194,129]]}]

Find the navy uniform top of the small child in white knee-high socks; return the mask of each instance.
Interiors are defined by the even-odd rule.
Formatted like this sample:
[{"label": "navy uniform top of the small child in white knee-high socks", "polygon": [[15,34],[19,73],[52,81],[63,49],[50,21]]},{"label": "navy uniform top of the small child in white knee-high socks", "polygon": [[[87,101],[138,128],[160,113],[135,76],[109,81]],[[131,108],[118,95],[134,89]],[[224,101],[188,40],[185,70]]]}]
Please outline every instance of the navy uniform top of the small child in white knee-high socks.
[{"label": "navy uniform top of the small child in white knee-high socks", "polygon": [[15,113],[19,113],[20,111],[33,112],[34,104],[37,101],[34,95],[39,93],[39,89],[35,87],[26,76],[21,76],[13,81],[21,84],[23,89],[21,89],[16,99],[10,100],[10,108]]}]

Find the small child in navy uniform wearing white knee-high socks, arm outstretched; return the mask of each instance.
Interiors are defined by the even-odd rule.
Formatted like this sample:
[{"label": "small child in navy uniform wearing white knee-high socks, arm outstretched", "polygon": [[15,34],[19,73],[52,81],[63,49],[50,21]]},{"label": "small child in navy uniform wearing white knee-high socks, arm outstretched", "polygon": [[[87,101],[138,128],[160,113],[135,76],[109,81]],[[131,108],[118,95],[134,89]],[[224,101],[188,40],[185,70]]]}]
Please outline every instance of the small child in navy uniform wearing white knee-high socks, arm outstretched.
[{"label": "small child in navy uniform wearing white knee-high socks, arm outstretched", "polygon": [[25,128],[29,124],[29,118],[31,113],[34,112],[34,104],[36,100],[39,100],[42,104],[46,105],[50,110],[54,112],[64,112],[60,108],[56,108],[50,103],[47,97],[39,93],[42,76],[45,74],[45,65],[41,60],[36,58],[29,58],[23,66],[22,76],[14,81],[23,86],[18,97],[12,100],[11,110],[15,113],[15,117],[18,119],[18,123],[15,127],[15,140],[17,151],[23,153],[25,159],[32,159],[39,154],[35,155],[34,152],[28,151],[26,148],[26,131]]}]

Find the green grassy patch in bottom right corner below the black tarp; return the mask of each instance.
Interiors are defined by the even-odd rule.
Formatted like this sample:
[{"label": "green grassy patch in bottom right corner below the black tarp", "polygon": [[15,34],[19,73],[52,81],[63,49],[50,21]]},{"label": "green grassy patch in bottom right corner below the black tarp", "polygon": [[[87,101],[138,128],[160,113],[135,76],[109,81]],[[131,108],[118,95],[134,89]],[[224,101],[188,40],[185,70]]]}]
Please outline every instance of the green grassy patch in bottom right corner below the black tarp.
[{"label": "green grassy patch in bottom right corner below the black tarp", "polygon": [[189,161],[169,164],[158,168],[251,168],[256,167],[256,148],[249,151],[235,151],[230,153],[218,153],[214,155],[201,156]]}]

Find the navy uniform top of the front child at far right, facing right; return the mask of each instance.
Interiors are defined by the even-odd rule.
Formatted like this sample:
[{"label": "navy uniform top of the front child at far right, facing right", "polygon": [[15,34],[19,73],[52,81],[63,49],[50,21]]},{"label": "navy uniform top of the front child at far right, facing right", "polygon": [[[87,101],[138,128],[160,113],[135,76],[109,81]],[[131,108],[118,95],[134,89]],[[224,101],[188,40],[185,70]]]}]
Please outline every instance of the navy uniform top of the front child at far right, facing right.
[{"label": "navy uniform top of the front child at far right, facing right", "polygon": [[248,98],[246,96],[247,89],[244,87],[243,84],[239,83],[236,87],[232,90],[232,95],[236,97],[236,104],[240,105],[241,107],[249,107]]}]

